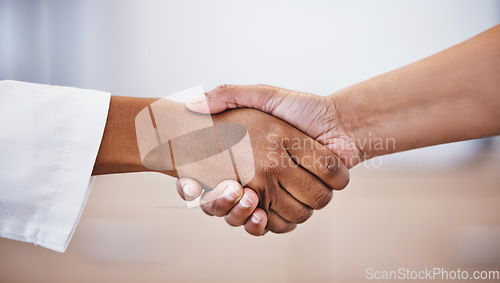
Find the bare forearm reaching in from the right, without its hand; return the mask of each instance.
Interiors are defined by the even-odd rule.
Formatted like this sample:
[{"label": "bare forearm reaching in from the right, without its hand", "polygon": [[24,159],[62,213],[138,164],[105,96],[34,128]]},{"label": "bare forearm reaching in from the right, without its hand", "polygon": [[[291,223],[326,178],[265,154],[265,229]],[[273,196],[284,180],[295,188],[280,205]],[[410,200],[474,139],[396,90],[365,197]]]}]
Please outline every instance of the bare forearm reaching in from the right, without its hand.
[{"label": "bare forearm reaching in from the right, without its hand", "polygon": [[366,158],[500,134],[500,26],[332,98]]}]

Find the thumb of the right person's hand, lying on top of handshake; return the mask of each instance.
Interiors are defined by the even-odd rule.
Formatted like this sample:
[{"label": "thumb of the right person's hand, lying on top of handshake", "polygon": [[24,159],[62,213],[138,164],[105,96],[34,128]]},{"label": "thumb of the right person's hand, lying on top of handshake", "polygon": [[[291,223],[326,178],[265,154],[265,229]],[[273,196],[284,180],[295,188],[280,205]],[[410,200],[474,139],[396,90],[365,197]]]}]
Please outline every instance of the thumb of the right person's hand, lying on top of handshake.
[{"label": "thumb of the right person's hand, lying on top of handshake", "polygon": [[279,88],[267,85],[221,85],[205,95],[194,96],[186,101],[193,112],[220,113],[226,109],[249,107],[270,112],[273,97]]}]

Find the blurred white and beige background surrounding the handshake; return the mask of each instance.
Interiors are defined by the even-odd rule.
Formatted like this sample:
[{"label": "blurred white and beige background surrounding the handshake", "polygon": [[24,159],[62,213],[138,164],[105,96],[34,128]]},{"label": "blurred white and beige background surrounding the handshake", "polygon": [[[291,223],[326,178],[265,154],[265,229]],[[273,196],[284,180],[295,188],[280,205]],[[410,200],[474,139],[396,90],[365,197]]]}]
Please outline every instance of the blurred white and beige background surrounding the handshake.
[{"label": "blurred white and beige background surrounding the handshake", "polygon": [[[0,79],[114,95],[265,83],[320,95],[500,23],[496,0],[0,0]],[[0,239],[1,282],[361,282],[499,270],[500,142],[377,158],[286,235],[187,209],[175,180],[97,177],[66,253]]]}]

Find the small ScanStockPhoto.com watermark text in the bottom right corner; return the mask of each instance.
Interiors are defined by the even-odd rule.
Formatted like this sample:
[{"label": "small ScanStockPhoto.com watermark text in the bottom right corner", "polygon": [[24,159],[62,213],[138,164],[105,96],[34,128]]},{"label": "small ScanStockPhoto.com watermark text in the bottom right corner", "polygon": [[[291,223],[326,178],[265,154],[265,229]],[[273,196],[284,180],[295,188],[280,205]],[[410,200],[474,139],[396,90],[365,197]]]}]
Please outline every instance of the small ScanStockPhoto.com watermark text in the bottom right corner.
[{"label": "small ScanStockPhoto.com watermark text in the bottom right corner", "polygon": [[460,268],[449,270],[442,267],[412,270],[400,267],[392,270],[367,268],[365,278],[368,280],[499,280],[499,270],[468,271]]}]

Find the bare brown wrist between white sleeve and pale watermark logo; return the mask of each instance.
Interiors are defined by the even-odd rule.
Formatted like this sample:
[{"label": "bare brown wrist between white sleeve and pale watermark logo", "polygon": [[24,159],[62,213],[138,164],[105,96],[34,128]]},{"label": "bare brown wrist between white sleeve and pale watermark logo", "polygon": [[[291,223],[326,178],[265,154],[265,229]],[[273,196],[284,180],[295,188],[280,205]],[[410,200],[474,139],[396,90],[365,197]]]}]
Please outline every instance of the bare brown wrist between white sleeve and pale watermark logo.
[{"label": "bare brown wrist between white sleeve and pale watermark logo", "polygon": [[[135,130],[135,117],[158,98],[112,96],[108,119],[93,175],[152,171],[143,166]],[[161,171],[171,176],[175,172]]]}]

